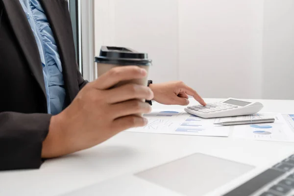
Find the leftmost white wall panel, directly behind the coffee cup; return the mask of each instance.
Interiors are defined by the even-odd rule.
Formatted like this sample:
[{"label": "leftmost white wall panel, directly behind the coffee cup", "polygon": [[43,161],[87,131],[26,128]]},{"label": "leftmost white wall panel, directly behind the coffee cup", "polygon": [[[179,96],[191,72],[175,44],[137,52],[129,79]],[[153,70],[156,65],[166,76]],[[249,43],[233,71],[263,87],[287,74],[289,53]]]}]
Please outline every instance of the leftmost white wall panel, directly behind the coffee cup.
[{"label": "leftmost white wall panel, directly behind the coffee cup", "polygon": [[154,62],[149,78],[178,78],[177,0],[96,0],[95,6],[96,54],[101,45],[147,52]]}]

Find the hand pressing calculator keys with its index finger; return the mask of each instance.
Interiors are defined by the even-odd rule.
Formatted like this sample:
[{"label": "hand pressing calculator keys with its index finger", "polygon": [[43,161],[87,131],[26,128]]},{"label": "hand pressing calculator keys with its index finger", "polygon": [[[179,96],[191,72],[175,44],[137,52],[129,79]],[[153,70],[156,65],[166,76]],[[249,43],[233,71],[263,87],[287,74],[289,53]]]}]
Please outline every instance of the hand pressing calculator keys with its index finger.
[{"label": "hand pressing calculator keys with its index finger", "polygon": [[190,95],[193,96],[201,105],[206,105],[205,101],[195,90],[181,81],[150,84],[149,88],[154,93],[153,99],[158,103],[166,105],[188,105],[188,98]]}]

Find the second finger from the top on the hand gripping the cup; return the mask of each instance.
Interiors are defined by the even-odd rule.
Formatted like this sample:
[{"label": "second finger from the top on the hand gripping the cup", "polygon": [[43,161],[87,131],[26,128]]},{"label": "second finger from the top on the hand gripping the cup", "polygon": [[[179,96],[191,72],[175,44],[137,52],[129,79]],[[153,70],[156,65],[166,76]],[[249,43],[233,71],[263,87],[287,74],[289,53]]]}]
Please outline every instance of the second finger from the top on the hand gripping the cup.
[{"label": "second finger from the top on the hand gripping the cup", "polygon": [[117,103],[129,99],[152,100],[154,97],[150,88],[138,84],[126,84],[118,88],[107,90],[106,94],[108,103]]}]

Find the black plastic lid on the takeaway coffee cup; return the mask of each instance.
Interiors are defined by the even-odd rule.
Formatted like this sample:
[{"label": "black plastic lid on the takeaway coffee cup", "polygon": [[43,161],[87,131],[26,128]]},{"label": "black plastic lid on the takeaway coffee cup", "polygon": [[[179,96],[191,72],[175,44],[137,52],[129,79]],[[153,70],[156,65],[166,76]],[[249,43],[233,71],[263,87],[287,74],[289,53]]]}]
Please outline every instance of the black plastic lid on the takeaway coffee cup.
[{"label": "black plastic lid on the takeaway coffee cup", "polygon": [[148,59],[147,53],[140,53],[128,48],[108,46],[101,47],[100,56],[95,57],[95,62],[117,65],[152,65],[152,60]]}]

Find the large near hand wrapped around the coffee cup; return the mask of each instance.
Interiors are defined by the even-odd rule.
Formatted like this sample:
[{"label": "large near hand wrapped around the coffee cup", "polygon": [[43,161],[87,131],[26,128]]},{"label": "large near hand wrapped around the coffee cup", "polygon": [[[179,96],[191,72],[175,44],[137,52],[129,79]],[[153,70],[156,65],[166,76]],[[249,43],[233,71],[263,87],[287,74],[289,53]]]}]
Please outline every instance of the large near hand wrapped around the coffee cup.
[{"label": "large near hand wrapped around the coffee cup", "polygon": [[152,91],[145,86],[126,84],[109,89],[120,81],[146,77],[137,66],[117,67],[87,84],[60,114],[53,116],[43,142],[42,157],[52,158],[94,147],[117,133],[144,126],[147,120],[136,114],[149,113]]}]

